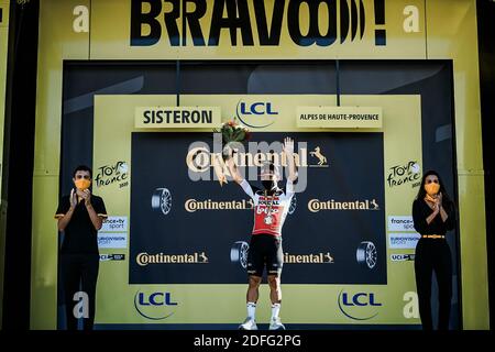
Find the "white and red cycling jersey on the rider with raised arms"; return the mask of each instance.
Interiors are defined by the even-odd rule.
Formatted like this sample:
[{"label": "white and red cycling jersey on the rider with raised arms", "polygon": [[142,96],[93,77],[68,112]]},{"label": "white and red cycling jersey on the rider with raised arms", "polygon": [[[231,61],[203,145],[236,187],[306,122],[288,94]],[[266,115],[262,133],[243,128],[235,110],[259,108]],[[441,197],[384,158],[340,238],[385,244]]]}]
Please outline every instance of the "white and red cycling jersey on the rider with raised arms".
[{"label": "white and red cycling jersey on the rider with raised arms", "polygon": [[290,200],[294,196],[294,185],[287,180],[286,187],[276,188],[272,191],[261,190],[251,187],[243,179],[242,189],[253,199],[254,202],[254,226],[252,234],[267,233],[272,235],[282,235],[282,227],[287,217]]}]

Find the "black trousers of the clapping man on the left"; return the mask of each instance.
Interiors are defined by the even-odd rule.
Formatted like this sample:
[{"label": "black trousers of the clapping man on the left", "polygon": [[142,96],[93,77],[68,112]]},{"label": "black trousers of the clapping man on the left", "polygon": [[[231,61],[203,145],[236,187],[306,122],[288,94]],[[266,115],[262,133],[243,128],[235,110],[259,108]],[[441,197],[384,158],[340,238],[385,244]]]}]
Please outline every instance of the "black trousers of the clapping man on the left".
[{"label": "black trousers of the clapping man on the left", "polygon": [[64,285],[67,330],[77,330],[78,319],[74,314],[74,307],[80,299],[75,300],[74,295],[78,292],[88,295],[88,317],[84,317],[84,329],[92,330],[95,323],[96,286],[99,265],[99,254],[61,255],[61,274]]}]

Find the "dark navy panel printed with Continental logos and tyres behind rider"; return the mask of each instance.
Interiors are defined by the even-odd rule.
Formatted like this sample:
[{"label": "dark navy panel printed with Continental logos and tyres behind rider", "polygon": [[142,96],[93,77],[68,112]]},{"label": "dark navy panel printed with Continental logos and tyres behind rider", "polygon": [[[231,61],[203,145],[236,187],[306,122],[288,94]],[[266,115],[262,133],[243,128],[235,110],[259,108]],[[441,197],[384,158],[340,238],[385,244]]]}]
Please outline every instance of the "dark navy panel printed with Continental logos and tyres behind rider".
[{"label": "dark navy panel printed with Continental logos and tyres behind rider", "polygon": [[[383,133],[289,135],[307,179],[283,229],[284,282],[386,284]],[[245,283],[253,204],[234,182],[215,182],[211,136],[132,133],[130,284]],[[285,136],[260,132],[250,143]],[[267,158],[283,161],[237,155],[240,167]]]}]

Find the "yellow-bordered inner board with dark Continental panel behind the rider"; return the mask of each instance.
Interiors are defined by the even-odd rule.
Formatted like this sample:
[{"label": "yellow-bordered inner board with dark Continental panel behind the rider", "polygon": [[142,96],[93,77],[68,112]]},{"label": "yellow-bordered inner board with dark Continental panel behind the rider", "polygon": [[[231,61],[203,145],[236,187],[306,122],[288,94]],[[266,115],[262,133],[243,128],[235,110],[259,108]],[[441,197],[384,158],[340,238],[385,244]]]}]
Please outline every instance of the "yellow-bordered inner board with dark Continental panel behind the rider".
[{"label": "yellow-bordered inner board with dark Continental panel behind the rider", "polygon": [[[245,295],[253,204],[230,178],[223,186],[216,178],[213,161],[221,148],[215,145],[212,130],[170,133],[134,127],[136,108],[174,99],[95,97],[94,191],[111,209],[99,233],[97,321],[101,324],[224,324],[243,316],[239,300]],[[402,240],[416,233],[410,226],[400,228],[404,221],[410,223],[409,206],[403,199],[414,197],[421,175],[418,97],[342,97],[349,105],[358,99],[383,109],[383,129],[360,133],[297,131],[298,107],[321,106],[334,100],[332,96],[265,95],[260,100],[243,95],[193,95],[180,99],[185,106],[196,101],[219,107],[222,121],[235,116],[251,125],[268,124],[251,128],[252,147],[246,145],[238,154],[240,167],[256,168],[270,157],[283,167],[283,155],[266,155],[255,147],[287,135],[296,141],[299,183],[305,178],[307,185],[294,197],[283,230],[286,322],[418,321],[414,250],[408,246],[415,240]],[[264,116],[243,114],[260,101],[263,109],[256,105],[254,110]],[[404,129],[406,121],[408,129]],[[110,128],[117,123],[119,129]],[[405,141],[408,147],[399,151]],[[396,175],[391,176],[393,169]],[[262,286],[263,297],[266,289]],[[308,306],[308,292],[311,305],[328,309],[298,308]],[[413,296],[405,301],[406,293]],[[205,299],[233,308],[210,315]],[[363,306],[353,305],[353,299]],[[402,307],[409,300],[413,310],[404,315]],[[260,307],[265,304],[261,300]],[[263,310],[260,319],[266,314]]]}]

